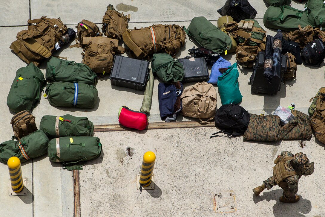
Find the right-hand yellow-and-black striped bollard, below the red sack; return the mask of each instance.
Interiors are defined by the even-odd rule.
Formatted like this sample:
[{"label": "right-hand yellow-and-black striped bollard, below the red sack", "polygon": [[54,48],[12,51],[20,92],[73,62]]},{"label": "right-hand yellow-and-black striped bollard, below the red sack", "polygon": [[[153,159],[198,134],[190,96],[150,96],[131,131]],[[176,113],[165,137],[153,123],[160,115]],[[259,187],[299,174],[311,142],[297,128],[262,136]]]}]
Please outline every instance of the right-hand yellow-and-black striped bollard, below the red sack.
[{"label": "right-hand yellow-and-black striped bollard, below the red sack", "polygon": [[[139,184],[144,188],[149,187],[151,185],[155,160],[156,160],[156,155],[153,152],[146,152],[143,155],[141,173],[138,174],[138,176],[139,176]],[[152,185],[151,188],[149,189],[154,189],[154,186]]]}]

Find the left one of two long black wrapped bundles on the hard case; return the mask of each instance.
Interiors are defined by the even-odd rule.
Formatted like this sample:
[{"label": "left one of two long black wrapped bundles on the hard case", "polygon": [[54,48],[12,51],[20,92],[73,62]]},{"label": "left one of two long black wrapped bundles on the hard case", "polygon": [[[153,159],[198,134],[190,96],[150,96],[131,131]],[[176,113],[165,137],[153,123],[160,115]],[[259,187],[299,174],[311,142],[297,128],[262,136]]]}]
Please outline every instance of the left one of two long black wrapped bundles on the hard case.
[{"label": "left one of two long black wrapped bundles on the hard case", "polygon": [[266,45],[264,51],[264,77],[270,83],[273,78],[273,36],[266,36]]}]

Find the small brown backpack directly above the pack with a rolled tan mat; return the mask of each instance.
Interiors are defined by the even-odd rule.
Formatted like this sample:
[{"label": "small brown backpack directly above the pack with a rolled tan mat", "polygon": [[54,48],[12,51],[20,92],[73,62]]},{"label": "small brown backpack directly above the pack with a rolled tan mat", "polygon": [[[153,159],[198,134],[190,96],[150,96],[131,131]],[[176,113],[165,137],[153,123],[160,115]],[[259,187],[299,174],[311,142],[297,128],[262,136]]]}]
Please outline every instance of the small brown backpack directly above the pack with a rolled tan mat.
[{"label": "small brown backpack directly above the pack with a rolled tan mat", "polygon": [[70,46],[72,47],[77,47],[81,46],[84,47],[82,44],[82,40],[84,37],[97,37],[97,36],[103,36],[103,34],[99,31],[99,27],[88,20],[82,20],[81,22],[78,23],[76,26],[77,28],[77,39],[79,40],[79,43]]}]

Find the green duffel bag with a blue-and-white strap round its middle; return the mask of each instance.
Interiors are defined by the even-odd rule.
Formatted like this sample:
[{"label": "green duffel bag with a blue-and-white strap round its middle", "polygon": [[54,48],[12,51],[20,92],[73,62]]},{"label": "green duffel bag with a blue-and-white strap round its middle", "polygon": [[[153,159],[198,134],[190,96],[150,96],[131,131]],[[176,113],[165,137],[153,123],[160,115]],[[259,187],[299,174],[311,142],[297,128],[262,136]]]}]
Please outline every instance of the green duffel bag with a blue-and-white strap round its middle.
[{"label": "green duffel bag with a blue-and-white strap round its middle", "polygon": [[52,106],[94,108],[98,91],[93,85],[57,81],[47,84],[45,94]]}]

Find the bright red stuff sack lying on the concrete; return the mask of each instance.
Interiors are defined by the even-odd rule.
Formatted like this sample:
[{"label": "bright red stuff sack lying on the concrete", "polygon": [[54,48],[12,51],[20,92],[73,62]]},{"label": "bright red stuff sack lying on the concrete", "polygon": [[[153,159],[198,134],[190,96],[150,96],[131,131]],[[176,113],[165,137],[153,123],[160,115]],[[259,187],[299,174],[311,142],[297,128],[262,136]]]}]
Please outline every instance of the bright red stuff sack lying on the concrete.
[{"label": "bright red stuff sack lying on the concrete", "polygon": [[146,113],[133,111],[126,106],[120,108],[118,118],[121,125],[137,130],[144,130],[148,125]]}]

